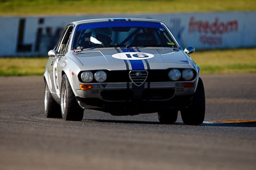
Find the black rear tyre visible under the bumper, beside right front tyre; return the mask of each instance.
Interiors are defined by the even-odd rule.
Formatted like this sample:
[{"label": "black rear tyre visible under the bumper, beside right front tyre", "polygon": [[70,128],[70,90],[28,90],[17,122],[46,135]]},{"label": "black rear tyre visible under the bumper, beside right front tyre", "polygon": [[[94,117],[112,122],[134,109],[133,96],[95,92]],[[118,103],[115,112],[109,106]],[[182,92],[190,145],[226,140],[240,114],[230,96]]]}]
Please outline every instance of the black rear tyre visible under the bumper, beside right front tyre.
[{"label": "black rear tyre visible under the bumper, beside right front tyre", "polygon": [[178,117],[178,110],[169,109],[158,112],[158,120],[161,124],[173,124]]}]

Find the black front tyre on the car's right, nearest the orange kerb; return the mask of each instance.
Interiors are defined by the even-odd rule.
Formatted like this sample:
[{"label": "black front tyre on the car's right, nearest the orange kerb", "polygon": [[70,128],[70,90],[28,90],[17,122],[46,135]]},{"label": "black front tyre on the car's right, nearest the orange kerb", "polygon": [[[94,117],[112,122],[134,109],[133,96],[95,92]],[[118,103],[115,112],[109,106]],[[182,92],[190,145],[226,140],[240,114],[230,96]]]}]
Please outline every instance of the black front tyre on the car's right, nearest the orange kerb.
[{"label": "black front tyre on the car's right, nearest the orange kerb", "polygon": [[205,94],[204,83],[199,78],[196,92],[189,108],[180,111],[182,120],[186,125],[200,125],[205,116]]}]

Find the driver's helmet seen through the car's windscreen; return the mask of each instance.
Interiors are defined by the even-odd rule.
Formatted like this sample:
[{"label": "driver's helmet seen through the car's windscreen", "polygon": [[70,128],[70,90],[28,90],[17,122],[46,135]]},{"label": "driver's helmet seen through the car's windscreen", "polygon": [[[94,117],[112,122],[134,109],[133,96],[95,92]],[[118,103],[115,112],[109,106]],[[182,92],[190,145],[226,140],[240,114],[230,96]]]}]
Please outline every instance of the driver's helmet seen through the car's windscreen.
[{"label": "driver's helmet seen through the car's windscreen", "polygon": [[109,45],[112,41],[112,30],[109,28],[93,29],[90,41],[98,45]]}]

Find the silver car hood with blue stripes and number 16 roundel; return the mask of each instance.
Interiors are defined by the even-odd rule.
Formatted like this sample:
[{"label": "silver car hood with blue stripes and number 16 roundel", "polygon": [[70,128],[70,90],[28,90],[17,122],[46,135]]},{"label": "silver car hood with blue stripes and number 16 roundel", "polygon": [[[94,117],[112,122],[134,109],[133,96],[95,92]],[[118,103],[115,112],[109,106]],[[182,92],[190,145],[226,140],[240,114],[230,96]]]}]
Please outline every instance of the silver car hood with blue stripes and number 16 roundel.
[{"label": "silver car hood with blue stripes and number 16 roundel", "polygon": [[[108,69],[168,69],[191,67],[186,55],[180,50],[120,48],[88,50],[74,55],[83,64],[83,70]],[[134,57],[135,56],[135,57]]]}]

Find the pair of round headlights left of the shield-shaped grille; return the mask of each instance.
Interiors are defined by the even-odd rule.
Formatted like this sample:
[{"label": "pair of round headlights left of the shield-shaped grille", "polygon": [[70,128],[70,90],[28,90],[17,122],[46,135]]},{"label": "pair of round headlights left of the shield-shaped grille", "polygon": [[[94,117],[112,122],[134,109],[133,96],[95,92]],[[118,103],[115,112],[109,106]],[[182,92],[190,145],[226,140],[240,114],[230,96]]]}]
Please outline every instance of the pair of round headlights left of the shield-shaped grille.
[{"label": "pair of round headlights left of the shield-shaped grille", "polygon": [[107,80],[107,73],[105,71],[96,71],[93,76],[92,71],[84,71],[81,74],[81,80],[84,83],[92,82],[93,78],[95,78],[99,83],[102,83]]}]

